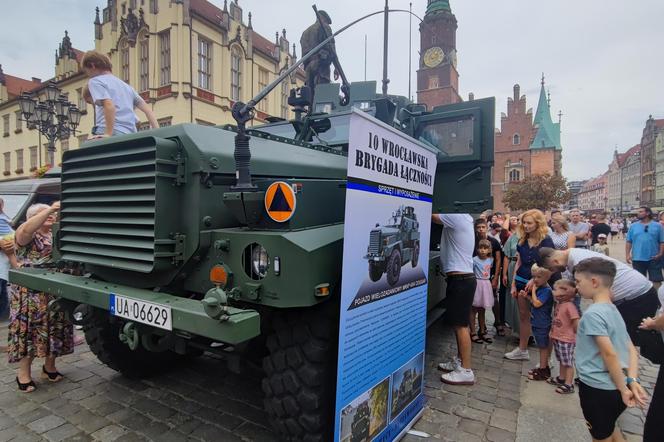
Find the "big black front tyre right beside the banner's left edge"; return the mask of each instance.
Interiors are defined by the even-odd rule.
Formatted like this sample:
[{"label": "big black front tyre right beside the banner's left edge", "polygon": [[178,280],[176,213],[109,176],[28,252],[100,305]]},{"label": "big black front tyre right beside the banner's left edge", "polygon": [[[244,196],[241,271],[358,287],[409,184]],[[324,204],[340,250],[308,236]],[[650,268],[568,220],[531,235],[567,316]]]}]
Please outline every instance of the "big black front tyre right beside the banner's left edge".
[{"label": "big black front tyre right beside the banner's left edge", "polygon": [[279,439],[332,439],[339,306],[278,313],[263,359],[265,410]]}]

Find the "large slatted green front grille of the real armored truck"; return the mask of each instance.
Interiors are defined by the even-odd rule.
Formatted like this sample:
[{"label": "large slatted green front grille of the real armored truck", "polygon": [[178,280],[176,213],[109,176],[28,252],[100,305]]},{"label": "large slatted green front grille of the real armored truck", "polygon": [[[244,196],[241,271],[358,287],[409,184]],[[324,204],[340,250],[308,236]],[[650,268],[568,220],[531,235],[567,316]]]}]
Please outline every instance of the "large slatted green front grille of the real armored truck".
[{"label": "large slatted green front grille of the real armored truck", "polygon": [[66,157],[59,233],[62,259],[152,271],[157,145],[140,141],[82,148]]}]

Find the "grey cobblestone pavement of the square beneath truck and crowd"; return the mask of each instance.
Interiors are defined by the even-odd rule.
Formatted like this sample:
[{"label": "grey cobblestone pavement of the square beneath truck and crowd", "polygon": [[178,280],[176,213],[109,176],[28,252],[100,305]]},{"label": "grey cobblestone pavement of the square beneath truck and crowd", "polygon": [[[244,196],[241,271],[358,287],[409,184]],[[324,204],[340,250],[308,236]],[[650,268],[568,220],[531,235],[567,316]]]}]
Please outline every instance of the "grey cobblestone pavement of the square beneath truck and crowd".
[{"label": "grey cobblestone pavement of the square beneath truck and crowd", "polygon": [[[613,247],[621,259],[624,243]],[[5,327],[0,326],[0,342],[5,341]],[[527,381],[535,349],[530,362],[503,358],[515,343],[514,338],[494,337],[493,344],[473,344],[476,384],[444,385],[436,366],[455,353],[454,337],[440,322],[431,327],[424,387],[427,405],[414,427],[428,437],[409,434],[404,440],[589,440],[577,395],[561,397],[546,383]],[[658,367],[643,358],[641,365],[641,379],[652,393]],[[212,355],[168,374],[131,381],[102,365],[83,344],[60,361],[64,381],[37,380],[37,391],[30,394],[16,391],[14,369],[0,358],[0,442],[276,440],[262,410],[259,376],[236,375]],[[33,369],[40,373],[41,361]],[[630,440],[640,440],[644,416],[642,410],[629,409],[621,417],[619,425]],[[573,427],[570,432],[562,431],[561,419]]]}]

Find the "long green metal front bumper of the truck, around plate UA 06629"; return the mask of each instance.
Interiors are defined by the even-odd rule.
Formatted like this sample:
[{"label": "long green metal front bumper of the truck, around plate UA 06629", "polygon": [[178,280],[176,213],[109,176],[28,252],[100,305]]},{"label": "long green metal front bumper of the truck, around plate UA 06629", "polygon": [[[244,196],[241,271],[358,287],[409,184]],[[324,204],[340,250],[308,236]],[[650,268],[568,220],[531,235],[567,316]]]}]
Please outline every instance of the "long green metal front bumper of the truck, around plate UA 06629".
[{"label": "long green metal front bumper of the truck, around plate UA 06629", "polygon": [[260,334],[260,315],[254,310],[229,307],[228,319],[220,321],[210,318],[201,301],[196,299],[180,298],[164,292],[111,284],[46,269],[10,270],[9,281],[104,310],[110,308],[111,294],[170,307],[174,332],[180,330],[218,342],[239,344]]}]

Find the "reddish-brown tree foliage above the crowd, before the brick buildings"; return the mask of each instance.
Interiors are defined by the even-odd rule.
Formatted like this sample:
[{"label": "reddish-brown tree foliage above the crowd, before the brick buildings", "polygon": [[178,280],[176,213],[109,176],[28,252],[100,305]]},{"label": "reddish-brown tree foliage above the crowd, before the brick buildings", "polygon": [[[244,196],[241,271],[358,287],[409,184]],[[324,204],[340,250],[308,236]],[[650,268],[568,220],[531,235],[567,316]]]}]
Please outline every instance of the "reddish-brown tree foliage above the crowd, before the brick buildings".
[{"label": "reddish-brown tree foliage above the crowd, before the brick buildings", "polygon": [[511,210],[559,207],[571,197],[567,180],[560,175],[530,175],[521,181],[508,184],[503,203]]}]

